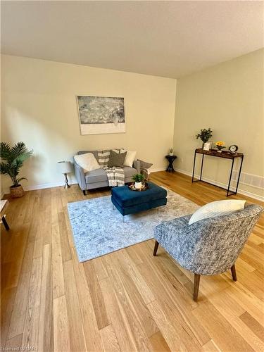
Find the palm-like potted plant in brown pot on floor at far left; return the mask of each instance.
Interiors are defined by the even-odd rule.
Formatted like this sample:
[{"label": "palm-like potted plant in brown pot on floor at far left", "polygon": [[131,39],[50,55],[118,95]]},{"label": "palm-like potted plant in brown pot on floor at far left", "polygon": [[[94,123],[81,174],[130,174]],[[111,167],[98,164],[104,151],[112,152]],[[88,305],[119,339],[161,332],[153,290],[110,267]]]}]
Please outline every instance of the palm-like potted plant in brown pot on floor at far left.
[{"label": "palm-like potted plant in brown pot on floor at far left", "polygon": [[25,177],[18,177],[18,174],[24,161],[32,155],[33,151],[28,151],[24,142],[18,142],[12,148],[8,143],[1,142],[0,153],[1,174],[9,175],[13,182],[13,185],[10,187],[11,197],[22,197],[24,189],[19,182],[27,179]]}]

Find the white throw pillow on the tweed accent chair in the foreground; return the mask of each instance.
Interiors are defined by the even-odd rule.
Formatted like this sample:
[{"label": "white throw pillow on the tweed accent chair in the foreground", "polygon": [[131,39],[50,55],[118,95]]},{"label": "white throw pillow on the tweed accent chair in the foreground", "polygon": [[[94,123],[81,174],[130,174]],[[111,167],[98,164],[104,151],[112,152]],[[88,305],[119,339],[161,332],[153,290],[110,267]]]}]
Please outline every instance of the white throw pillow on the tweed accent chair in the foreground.
[{"label": "white throw pillow on the tweed accent chair in the foreground", "polygon": [[220,215],[226,215],[232,211],[244,209],[246,201],[239,201],[237,199],[228,199],[226,201],[212,201],[211,203],[202,206],[191,215],[189,225],[196,221],[215,218]]}]

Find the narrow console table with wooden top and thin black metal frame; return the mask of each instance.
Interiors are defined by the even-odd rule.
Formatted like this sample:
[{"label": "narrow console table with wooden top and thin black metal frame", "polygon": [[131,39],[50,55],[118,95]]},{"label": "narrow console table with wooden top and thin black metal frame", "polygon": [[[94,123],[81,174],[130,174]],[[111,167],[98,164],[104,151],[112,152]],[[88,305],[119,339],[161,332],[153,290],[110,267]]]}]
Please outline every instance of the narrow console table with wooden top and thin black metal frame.
[{"label": "narrow console table with wooden top and thin black metal frame", "polygon": [[[196,154],[202,154],[202,159],[201,159],[201,171],[200,171],[200,178],[199,180],[194,180],[194,170],[195,170],[195,162],[196,162]],[[230,170],[230,179],[228,182],[228,187],[227,189],[224,187],[216,186],[213,183],[206,182],[202,180],[202,174],[203,174],[203,158],[205,155],[208,156],[216,156],[217,158],[224,158],[224,159],[230,159],[232,160],[232,165],[231,165],[231,170]],[[231,179],[232,179],[232,172],[233,172],[233,167],[234,167],[234,159],[240,158],[240,167],[239,167],[239,175],[237,177],[237,187],[236,191],[230,191],[230,184],[231,184]],[[210,149],[210,151],[204,151],[203,149],[195,149],[194,151],[194,168],[192,170],[192,177],[191,177],[191,182],[206,182],[208,184],[213,184],[215,187],[219,187],[222,189],[225,189],[227,191],[227,196],[232,196],[233,194],[237,194],[237,189],[239,187],[239,179],[241,175],[241,169],[242,169],[242,164],[243,164],[243,159],[244,159],[244,154],[243,153],[231,153],[230,151],[222,151],[222,153],[218,153],[215,149]]]}]

